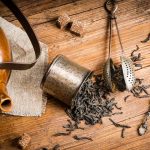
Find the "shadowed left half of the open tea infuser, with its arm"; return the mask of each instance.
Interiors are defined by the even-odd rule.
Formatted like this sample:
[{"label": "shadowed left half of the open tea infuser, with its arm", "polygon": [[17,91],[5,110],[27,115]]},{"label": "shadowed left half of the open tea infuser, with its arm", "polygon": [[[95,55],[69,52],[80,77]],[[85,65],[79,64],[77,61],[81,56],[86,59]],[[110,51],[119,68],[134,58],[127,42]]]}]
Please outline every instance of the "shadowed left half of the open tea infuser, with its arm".
[{"label": "shadowed left half of the open tea infuser, with its arm", "polygon": [[106,9],[106,11],[108,12],[108,15],[109,15],[108,16],[109,17],[109,54],[108,54],[107,61],[104,65],[103,76],[104,76],[105,83],[107,84],[107,87],[109,88],[109,90],[114,92],[115,91],[115,84],[112,82],[112,75],[115,72],[115,67],[113,65],[113,60],[110,56],[111,56],[111,41],[112,41],[112,19],[113,19],[113,16],[114,16],[118,6],[113,5],[112,10],[109,10],[107,8],[107,4],[109,2],[110,1],[108,0],[105,3],[105,9]]}]

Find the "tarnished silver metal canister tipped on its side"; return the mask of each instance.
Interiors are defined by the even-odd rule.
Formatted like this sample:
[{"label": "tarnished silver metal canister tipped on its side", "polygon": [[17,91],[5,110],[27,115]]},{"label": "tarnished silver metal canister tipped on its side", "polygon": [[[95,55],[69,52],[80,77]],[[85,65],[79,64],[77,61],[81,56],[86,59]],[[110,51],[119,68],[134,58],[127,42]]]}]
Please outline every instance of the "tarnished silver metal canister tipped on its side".
[{"label": "tarnished silver metal canister tipped on its side", "polygon": [[70,105],[81,84],[90,74],[90,70],[63,55],[58,55],[46,71],[41,88],[44,92]]}]

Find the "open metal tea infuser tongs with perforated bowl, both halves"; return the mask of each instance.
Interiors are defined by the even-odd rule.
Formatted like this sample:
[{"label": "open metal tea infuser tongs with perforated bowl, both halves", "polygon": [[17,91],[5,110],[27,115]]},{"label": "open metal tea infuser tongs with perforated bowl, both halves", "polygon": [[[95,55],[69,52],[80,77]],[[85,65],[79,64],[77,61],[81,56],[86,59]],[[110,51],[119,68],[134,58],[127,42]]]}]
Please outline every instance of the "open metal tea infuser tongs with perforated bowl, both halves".
[{"label": "open metal tea infuser tongs with perforated bowl, both halves", "polygon": [[[110,7],[110,4],[112,4],[111,10],[110,10],[110,8],[108,8],[108,7]],[[121,66],[122,66],[122,71],[123,71],[123,78],[125,81],[126,89],[130,91],[130,90],[132,90],[132,88],[135,84],[135,73],[134,73],[134,67],[133,67],[133,63],[132,63],[131,59],[125,57],[125,54],[124,54],[124,49],[123,49],[123,45],[121,42],[121,37],[120,37],[119,28],[118,28],[118,24],[117,24],[117,18],[115,16],[115,12],[116,12],[117,8],[118,8],[118,6],[117,6],[117,4],[115,4],[114,0],[106,1],[105,9],[109,15],[110,37],[109,37],[109,58],[106,61],[106,64],[104,67],[104,79],[105,79],[107,85],[113,91],[113,88],[112,88],[113,83],[112,83],[111,77],[112,77],[112,73],[113,73],[112,71],[115,71],[115,70],[111,69],[113,67],[113,62],[110,61],[110,48],[111,48],[112,20],[114,20],[116,30],[117,30],[117,36],[119,39],[119,44],[121,46],[121,52],[122,52],[121,56],[120,56],[120,60],[121,60]]]}]

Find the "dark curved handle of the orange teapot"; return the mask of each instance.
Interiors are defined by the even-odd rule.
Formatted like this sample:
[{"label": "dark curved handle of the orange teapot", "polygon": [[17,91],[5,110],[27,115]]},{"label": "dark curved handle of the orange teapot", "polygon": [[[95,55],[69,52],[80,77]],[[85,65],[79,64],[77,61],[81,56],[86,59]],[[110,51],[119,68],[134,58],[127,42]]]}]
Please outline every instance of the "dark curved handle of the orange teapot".
[{"label": "dark curved handle of the orange teapot", "polygon": [[1,0],[4,5],[6,5],[12,13],[15,15],[15,17],[19,20],[20,24],[26,31],[35,52],[35,60],[31,63],[19,63],[19,62],[3,62],[0,63],[0,69],[9,69],[9,70],[27,70],[30,69],[35,65],[35,63],[38,61],[40,54],[41,54],[41,48],[39,45],[39,42],[37,40],[37,37],[31,28],[28,20],[23,15],[21,10],[16,6],[16,4],[12,0]]}]

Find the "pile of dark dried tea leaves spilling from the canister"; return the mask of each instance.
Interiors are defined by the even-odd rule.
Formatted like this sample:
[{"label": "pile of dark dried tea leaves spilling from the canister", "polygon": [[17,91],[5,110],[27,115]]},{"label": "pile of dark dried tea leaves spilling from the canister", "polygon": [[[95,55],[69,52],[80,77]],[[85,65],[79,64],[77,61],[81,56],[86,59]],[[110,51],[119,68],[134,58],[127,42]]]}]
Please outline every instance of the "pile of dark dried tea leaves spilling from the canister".
[{"label": "pile of dark dried tea leaves spilling from the canister", "polygon": [[110,98],[102,75],[91,75],[81,86],[72,100],[67,114],[74,120],[84,120],[85,124],[102,123],[102,118],[113,115],[113,109],[121,109],[114,98]]}]

